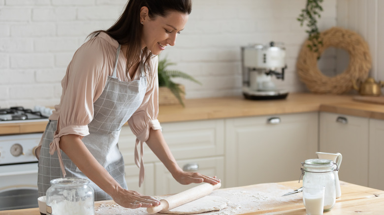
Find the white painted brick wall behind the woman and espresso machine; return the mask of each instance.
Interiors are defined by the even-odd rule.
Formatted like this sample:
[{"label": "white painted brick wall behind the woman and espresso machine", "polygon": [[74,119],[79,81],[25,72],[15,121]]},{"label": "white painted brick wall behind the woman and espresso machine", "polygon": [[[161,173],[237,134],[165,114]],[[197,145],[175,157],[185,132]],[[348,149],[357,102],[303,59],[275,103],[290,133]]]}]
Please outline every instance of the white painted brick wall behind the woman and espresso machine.
[{"label": "white painted brick wall behind the woman and espresso machine", "polygon": [[[320,30],[336,25],[336,1],[325,0]],[[86,36],[110,27],[127,0],[0,0],[0,107],[53,106],[73,53]],[[295,63],[306,38],[296,21],[305,0],[193,0],[189,22],[175,47],[160,55],[174,69],[203,85],[184,83],[187,98],[241,94],[240,47],[284,42],[286,80],[275,83],[291,92],[305,91]],[[320,68],[333,71],[334,52],[324,54]]]}]

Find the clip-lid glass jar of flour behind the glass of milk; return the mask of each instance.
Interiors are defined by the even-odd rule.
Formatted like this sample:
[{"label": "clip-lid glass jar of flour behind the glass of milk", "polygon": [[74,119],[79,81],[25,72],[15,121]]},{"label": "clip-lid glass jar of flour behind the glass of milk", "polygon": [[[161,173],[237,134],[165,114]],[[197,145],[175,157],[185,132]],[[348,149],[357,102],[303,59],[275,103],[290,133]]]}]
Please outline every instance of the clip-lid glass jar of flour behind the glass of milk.
[{"label": "clip-lid glass jar of flour behind the glass of milk", "polygon": [[331,210],[336,202],[336,179],[333,171],[337,171],[337,164],[327,159],[308,159],[301,164],[303,186],[310,184],[325,186],[324,212]]}]

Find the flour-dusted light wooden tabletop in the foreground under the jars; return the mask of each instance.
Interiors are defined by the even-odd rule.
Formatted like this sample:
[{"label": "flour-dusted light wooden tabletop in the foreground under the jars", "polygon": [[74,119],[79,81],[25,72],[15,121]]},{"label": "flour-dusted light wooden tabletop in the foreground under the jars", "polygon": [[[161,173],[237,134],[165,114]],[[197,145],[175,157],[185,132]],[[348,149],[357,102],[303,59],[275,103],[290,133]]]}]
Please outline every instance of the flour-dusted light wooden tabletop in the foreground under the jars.
[{"label": "flour-dusted light wooden tabletop in the foreground under the jars", "polygon": [[[301,187],[297,181],[257,184],[238,188],[221,188],[214,190],[211,196],[227,198],[227,207],[220,212],[208,212],[204,215],[305,215],[302,193],[288,196],[283,194]],[[340,182],[342,196],[336,199],[331,211],[324,215],[355,215],[355,214],[383,214],[384,191],[362,187],[346,182]],[[0,215],[39,215],[38,208],[3,211]],[[95,203],[96,215],[134,214],[145,215],[146,210],[124,209],[113,201]],[[160,214],[159,214],[160,215]]]}]

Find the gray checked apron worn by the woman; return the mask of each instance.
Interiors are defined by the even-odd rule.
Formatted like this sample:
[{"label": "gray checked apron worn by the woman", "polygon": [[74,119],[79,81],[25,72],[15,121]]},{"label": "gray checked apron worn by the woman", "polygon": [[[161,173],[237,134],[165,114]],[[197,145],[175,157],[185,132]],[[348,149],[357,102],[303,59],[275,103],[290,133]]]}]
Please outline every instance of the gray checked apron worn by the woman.
[{"label": "gray checked apron worn by the woman", "polygon": [[[82,141],[109,174],[123,188],[127,189],[124,178],[124,160],[119,151],[118,139],[121,127],[143,102],[147,89],[147,79],[142,62],[139,65],[140,80],[125,82],[117,79],[116,68],[120,48],[121,45],[117,49],[113,75],[112,77],[108,76],[104,91],[94,103],[94,118],[88,125],[90,134],[84,136]],[[50,120],[42,137],[37,180],[39,196],[45,195],[51,186],[50,181],[52,179],[63,177],[58,153],[56,151],[53,155],[49,153],[56,130],[57,121]],[[66,176],[88,179],[63,151],[61,151],[61,157]],[[111,199],[92,181],[90,181],[90,186],[95,190],[95,201]]]}]

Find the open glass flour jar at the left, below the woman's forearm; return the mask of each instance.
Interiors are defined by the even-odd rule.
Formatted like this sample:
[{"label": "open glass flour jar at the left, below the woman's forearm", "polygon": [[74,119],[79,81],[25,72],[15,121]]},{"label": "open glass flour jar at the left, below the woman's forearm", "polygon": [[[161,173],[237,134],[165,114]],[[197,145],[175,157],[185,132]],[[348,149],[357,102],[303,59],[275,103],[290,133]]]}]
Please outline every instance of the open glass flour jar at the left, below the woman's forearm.
[{"label": "open glass flour jar at the left, below the woman's forearm", "polygon": [[89,180],[58,178],[47,189],[48,215],[95,215],[94,190]]}]

